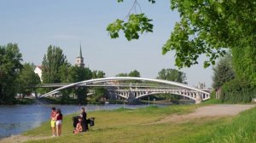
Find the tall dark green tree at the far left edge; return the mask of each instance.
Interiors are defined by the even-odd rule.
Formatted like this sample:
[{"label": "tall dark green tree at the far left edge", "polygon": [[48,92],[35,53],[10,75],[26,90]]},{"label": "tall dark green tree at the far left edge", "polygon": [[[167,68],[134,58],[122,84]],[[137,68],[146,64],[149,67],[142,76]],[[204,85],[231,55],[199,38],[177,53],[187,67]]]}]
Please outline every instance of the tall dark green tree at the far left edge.
[{"label": "tall dark green tree at the far left edge", "polygon": [[12,104],[15,101],[15,80],[22,67],[21,57],[16,43],[0,46],[0,104]]}]

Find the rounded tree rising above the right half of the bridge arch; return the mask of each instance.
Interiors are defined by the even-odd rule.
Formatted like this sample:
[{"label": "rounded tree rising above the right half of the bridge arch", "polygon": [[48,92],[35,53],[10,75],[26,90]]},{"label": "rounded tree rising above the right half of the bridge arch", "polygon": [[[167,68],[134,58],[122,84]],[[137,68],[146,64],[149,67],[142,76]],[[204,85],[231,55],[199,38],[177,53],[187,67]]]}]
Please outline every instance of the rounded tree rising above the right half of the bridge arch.
[{"label": "rounded tree rising above the right half of the bridge arch", "polygon": [[160,72],[158,72],[157,79],[163,79],[168,81],[173,81],[177,83],[187,83],[186,82],[186,74],[184,72],[180,72],[176,69],[165,69],[163,68]]}]

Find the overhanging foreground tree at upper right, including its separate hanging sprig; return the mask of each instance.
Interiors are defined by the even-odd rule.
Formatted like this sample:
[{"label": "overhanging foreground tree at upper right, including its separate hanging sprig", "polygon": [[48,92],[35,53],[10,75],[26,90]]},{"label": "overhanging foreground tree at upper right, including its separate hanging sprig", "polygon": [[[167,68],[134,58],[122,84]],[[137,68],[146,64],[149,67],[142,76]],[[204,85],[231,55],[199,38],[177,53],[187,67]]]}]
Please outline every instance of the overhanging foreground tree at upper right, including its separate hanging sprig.
[{"label": "overhanging foreground tree at upper right, including its separate hanging sprig", "polygon": [[[151,0],[148,1],[152,3]],[[134,5],[131,9],[136,9]],[[255,1],[172,0],[171,9],[179,12],[180,21],[164,44],[162,54],[176,51],[175,65],[178,67],[198,64],[199,56],[205,54],[208,60],[204,62],[204,66],[207,67],[224,56],[226,49],[232,49],[236,74],[256,85],[256,65],[253,64],[256,60]],[[128,15],[132,16],[130,12]],[[129,41],[137,39],[137,35],[131,36],[137,32],[143,33],[145,30],[141,25],[150,24],[150,20],[145,16],[136,17],[136,20],[129,19],[125,24],[122,20],[116,20],[108,25],[110,37],[119,37],[118,32],[124,31]],[[142,21],[145,24],[141,24]],[[131,36],[127,37],[126,34]]]}]

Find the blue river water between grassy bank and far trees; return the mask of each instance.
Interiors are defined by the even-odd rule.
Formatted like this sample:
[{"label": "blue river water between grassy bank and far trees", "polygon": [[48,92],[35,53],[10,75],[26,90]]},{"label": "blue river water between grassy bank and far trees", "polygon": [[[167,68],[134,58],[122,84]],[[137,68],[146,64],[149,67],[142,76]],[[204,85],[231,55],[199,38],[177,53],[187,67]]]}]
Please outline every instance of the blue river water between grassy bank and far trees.
[{"label": "blue river water between grassy bank and far trees", "polygon": [[[40,123],[49,120],[51,107],[61,109],[64,115],[80,112],[82,106],[65,106],[65,105],[16,105],[0,106],[0,139],[20,134],[28,129],[38,127]],[[139,108],[148,105],[125,105],[125,108]],[[157,105],[160,106],[160,105]],[[87,112],[96,110],[113,110],[124,105],[87,105],[84,106]]]}]

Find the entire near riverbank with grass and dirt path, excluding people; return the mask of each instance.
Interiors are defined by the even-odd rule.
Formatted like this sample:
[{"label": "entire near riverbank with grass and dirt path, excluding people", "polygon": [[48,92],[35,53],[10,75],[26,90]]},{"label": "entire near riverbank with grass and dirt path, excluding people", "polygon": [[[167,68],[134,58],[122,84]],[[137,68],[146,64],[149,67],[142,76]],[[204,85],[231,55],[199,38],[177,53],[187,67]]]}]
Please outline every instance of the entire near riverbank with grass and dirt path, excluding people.
[{"label": "entire near riverbank with grass and dirt path, excluding people", "polygon": [[[43,123],[16,139],[10,137],[0,142],[18,142],[21,138],[26,142],[241,142],[240,138],[255,138],[254,106],[150,106],[89,112],[89,117],[96,117],[96,126],[87,133],[72,134],[73,115],[69,115],[64,118],[61,137],[50,138],[49,123]],[[248,111],[242,112],[245,110]]]}]

